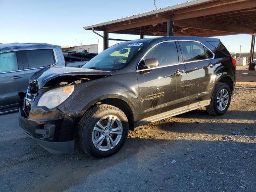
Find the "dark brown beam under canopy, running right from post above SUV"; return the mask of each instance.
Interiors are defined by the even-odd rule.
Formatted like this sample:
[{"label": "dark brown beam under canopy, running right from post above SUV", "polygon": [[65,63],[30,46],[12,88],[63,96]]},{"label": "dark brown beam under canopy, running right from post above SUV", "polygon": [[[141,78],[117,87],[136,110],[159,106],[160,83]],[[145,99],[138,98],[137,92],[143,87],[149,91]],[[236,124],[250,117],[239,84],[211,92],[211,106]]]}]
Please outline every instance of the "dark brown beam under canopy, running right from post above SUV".
[{"label": "dark brown beam under canopy, running right from post above SUV", "polygon": [[178,20],[174,22],[174,25],[180,26],[180,27],[202,29],[202,30],[231,32],[236,34],[252,34],[253,32],[253,29],[237,27],[237,26],[229,26],[229,25],[212,24],[212,23],[200,22],[192,19]]}]

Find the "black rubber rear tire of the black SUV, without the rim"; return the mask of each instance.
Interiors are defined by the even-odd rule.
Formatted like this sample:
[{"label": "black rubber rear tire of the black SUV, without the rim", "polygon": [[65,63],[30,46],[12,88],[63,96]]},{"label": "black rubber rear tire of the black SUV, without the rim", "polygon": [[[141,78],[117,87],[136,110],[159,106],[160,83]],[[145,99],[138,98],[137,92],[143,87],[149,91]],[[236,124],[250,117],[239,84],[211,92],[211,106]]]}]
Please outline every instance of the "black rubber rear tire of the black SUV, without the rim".
[{"label": "black rubber rear tire of the black SUV, without the rim", "polygon": [[[223,110],[220,110],[218,108],[218,104],[217,104],[217,97],[218,97],[220,91],[223,89],[227,90],[229,98],[228,98],[226,108],[224,108]],[[216,88],[214,89],[214,92],[212,94],[212,99],[211,99],[210,105],[206,106],[206,110],[210,115],[223,115],[228,110],[228,107],[230,105],[230,100],[231,100],[230,87],[225,83],[217,83]]]}]

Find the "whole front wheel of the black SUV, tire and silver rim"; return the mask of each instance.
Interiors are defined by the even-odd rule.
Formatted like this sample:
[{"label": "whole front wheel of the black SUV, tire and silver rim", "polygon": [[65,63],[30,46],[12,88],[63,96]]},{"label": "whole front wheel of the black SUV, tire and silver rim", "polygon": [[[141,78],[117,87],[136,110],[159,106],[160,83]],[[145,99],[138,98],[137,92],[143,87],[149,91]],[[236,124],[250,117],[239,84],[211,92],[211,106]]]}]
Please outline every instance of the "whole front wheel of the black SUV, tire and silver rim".
[{"label": "whole front wheel of the black SUV, tire and silver rim", "polygon": [[79,140],[84,152],[96,158],[106,158],[118,152],[129,131],[124,112],[102,104],[89,109],[79,123]]}]

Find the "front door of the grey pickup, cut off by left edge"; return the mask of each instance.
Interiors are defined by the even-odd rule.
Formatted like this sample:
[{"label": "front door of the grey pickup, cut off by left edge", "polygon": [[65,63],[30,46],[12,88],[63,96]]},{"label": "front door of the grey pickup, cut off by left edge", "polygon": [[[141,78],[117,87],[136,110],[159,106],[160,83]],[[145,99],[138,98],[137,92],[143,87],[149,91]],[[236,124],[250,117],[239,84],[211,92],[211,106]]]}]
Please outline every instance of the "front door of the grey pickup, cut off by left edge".
[{"label": "front door of the grey pickup, cut off by left edge", "polygon": [[0,52],[0,85],[1,113],[6,108],[18,105],[18,92],[24,88],[24,71],[20,52]]}]

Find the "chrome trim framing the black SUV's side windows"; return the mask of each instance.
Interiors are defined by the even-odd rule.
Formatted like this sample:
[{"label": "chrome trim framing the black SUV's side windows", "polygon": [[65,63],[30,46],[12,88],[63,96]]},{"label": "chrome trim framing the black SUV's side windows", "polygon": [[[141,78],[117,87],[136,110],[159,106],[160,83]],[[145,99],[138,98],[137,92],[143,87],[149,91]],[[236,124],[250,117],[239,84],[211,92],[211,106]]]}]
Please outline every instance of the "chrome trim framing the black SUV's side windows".
[{"label": "chrome trim framing the black SUV's side windows", "polygon": [[[165,66],[153,67],[153,68],[150,68],[150,69],[141,69],[141,70],[138,70],[139,64],[140,64],[140,62],[142,61],[142,59],[143,59],[155,46],[158,46],[158,45],[161,44],[161,43],[166,43],[166,42],[179,42],[179,41],[190,41],[190,42],[197,42],[197,43],[200,43],[200,44],[202,44],[202,46],[206,47],[206,48],[213,54],[213,57],[212,57],[212,58],[209,58],[209,59],[194,60],[194,61],[188,61],[188,62],[183,62],[183,61],[182,61],[182,62],[180,62],[180,63],[178,63],[178,64],[170,64],[170,65],[165,65]],[[142,56],[142,58],[140,59],[140,61],[139,61],[138,64],[137,64],[136,72],[146,71],[146,70],[152,70],[152,69],[158,69],[158,68],[163,68],[163,67],[170,67],[170,66],[175,66],[175,65],[179,65],[179,64],[187,64],[187,63],[192,63],[192,62],[206,61],[206,60],[211,60],[211,59],[214,59],[214,58],[215,58],[215,54],[214,54],[207,46],[205,46],[203,43],[201,43],[200,41],[196,41],[196,40],[167,40],[167,41],[158,42],[157,44],[155,44],[152,48],[150,48],[150,49]]]}]

